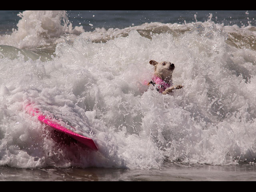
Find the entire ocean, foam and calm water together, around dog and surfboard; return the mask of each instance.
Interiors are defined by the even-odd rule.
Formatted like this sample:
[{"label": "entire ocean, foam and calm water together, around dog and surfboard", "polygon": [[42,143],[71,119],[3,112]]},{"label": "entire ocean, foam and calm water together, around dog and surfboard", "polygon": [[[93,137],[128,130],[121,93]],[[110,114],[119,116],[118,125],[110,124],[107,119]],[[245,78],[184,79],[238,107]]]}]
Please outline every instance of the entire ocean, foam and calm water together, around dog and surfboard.
[{"label": "entire ocean, foam and calm water together, around dog and surfboard", "polygon": [[[256,180],[256,11],[0,11],[0,181]],[[146,89],[150,60],[174,84]],[[92,138],[56,142],[32,103]]]}]

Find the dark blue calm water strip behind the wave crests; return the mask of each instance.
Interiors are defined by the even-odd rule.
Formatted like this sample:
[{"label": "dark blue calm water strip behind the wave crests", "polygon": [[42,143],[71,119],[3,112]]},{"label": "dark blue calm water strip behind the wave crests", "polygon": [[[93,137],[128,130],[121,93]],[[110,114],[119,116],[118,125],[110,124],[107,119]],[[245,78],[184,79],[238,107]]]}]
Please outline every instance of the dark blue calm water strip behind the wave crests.
[{"label": "dark blue calm water strip behind the wave crests", "polygon": [[[9,34],[16,29],[21,10],[0,11],[0,34]],[[256,11],[246,10],[68,10],[67,16],[73,26],[83,26],[85,31],[99,28],[125,28],[144,23],[178,23],[205,22],[209,19],[218,24],[256,26]],[[89,25],[90,24],[90,25]]]}]

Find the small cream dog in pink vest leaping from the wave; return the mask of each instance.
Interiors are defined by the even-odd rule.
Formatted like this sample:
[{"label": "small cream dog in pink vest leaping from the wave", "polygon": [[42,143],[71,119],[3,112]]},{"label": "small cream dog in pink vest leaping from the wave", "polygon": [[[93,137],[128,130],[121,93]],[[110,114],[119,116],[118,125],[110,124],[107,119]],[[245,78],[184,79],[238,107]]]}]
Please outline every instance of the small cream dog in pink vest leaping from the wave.
[{"label": "small cream dog in pink vest leaping from the wave", "polygon": [[172,83],[172,72],[174,71],[174,64],[170,62],[156,62],[155,60],[150,60],[151,65],[155,67],[154,76],[152,80],[148,83],[148,86],[152,84],[156,86],[156,90],[161,94],[165,95],[171,93],[174,89],[181,89],[182,85],[174,86]]}]

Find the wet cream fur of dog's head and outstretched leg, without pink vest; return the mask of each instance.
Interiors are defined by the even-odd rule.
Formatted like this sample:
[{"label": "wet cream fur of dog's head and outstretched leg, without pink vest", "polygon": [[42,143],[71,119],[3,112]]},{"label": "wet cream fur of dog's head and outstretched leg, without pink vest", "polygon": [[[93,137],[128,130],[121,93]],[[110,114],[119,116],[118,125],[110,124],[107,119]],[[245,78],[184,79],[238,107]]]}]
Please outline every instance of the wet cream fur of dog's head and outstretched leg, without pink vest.
[{"label": "wet cream fur of dog's head and outstretched leg, without pink vest", "polygon": [[[172,72],[174,71],[174,68],[175,68],[173,63],[166,62],[166,61],[156,62],[154,60],[151,60],[149,63],[155,67],[155,71],[154,71],[155,76],[161,78],[166,83],[170,82],[172,84]],[[166,90],[164,90],[162,94],[165,95],[167,93],[171,93],[172,90],[180,89],[182,87],[183,87],[182,85],[171,86]]]}]

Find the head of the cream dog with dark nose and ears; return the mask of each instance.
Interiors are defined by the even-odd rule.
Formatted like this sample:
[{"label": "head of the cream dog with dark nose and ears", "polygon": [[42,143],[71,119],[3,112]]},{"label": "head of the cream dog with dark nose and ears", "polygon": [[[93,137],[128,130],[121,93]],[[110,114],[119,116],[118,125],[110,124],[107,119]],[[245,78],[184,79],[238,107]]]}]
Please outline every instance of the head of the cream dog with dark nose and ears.
[{"label": "head of the cream dog with dark nose and ears", "polygon": [[172,72],[175,68],[173,63],[166,62],[166,61],[156,62],[154,60],[151,60],[149,63],[155,67],[154,74],[161,77],[162,80],[172,78]]}]

